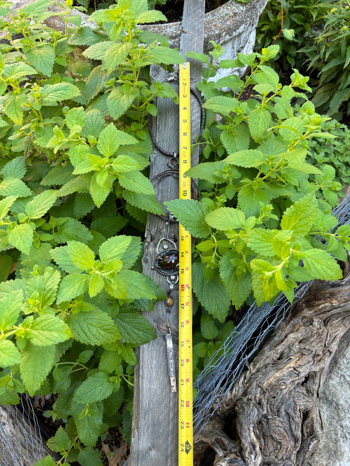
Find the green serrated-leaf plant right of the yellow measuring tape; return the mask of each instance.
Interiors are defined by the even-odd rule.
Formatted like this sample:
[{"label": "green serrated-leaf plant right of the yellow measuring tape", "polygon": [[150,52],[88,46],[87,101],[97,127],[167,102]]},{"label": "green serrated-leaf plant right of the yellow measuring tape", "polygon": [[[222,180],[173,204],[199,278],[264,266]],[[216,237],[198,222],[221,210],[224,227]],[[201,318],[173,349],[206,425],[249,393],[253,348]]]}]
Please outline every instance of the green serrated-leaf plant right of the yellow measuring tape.
[{"label": "green serrated-leaf plant right of the yellow measuring tape", "polygon": [[[207,77],[215,75],[222,55],[213,45],[211,62],[188,54],[207,64]],[[335,169],[325,164],[320,170],[306,161],[308,141],[335,137],[321,131],[329,118],[315,113],[301,92],[311,90],[308,77],[294,70],[291,83],[282,86],[266,66],[278,51],[275,45],[219,62],[224,68],[248,65],[245,82],[233,75],[199,84],[207,97],[205,142],[198,143],[204,146],[203,163],[187,174],[201,180],[202,199],[165,203],[198,239],[193,289],[221,322],[231,302],[238,309],[255,298],[260,305],[280,292],[292,302],[298,282],[341,278],[336,259],[346,260],[349,250],[350,227],[336,228],[331,213],[342,187],[334,181]],[[250,85],[256,98],[245,100]],[[298,116],[294,97],[305,99]]]}]

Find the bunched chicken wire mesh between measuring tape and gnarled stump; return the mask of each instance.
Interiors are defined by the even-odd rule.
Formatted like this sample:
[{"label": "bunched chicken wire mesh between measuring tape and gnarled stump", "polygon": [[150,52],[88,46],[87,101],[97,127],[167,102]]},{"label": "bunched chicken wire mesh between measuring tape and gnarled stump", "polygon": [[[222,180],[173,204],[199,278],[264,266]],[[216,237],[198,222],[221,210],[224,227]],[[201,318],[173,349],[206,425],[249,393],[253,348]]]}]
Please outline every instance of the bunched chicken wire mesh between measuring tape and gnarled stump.
[{"label": "bunched chicken wire mesh between measuring tape and gnarled stump", "polygon": [[[333,209],[333,215],[338,217],[338,225],[350,224],[350,194]],[[311,283],[303,283],[295,290],[293,304],[301,300]],[[217,410],[243,371],[245,363],[286,316],[291,306],[283,294],[271,306],[267,302],[260,307],[254,303],[236,329],[211,356],[193,385],[197,390],[193,402],[193,432],[202,431],[214,413],[214,401],[218,400]]]}]

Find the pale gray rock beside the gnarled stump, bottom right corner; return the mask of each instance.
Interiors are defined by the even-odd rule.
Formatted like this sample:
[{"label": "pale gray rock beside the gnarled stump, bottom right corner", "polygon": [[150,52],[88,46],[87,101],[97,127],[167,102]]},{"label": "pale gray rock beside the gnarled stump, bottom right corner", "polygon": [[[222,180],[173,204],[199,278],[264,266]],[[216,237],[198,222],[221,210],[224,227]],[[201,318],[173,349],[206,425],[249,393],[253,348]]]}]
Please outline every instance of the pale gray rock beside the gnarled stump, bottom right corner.
[{"label": "pale gray rock beside the gnarled stump, bottom right corner", "polygon": [[319,399],[318,452],[309,466],[350,466],[350,350]]}]

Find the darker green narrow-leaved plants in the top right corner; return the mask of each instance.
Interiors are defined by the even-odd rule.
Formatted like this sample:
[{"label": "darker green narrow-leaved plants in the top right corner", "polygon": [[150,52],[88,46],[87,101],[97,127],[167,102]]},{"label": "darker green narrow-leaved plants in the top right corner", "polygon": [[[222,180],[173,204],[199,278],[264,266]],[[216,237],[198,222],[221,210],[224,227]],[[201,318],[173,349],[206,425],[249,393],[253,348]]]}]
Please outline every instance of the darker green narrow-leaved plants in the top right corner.
[{"label": "darker green narrow-leaved plants in the top right corner", "polygon": [[[319,113],[340,120],[350,113],[350,4],[322,0],[283,1],[283,33],[275,43],[277,69],[294,66],[310,75]],[[281,27],[281,4],[270,0],[257,27],[255,50],[271,44]],[[273,65],[273,63],[272,63]]]}]

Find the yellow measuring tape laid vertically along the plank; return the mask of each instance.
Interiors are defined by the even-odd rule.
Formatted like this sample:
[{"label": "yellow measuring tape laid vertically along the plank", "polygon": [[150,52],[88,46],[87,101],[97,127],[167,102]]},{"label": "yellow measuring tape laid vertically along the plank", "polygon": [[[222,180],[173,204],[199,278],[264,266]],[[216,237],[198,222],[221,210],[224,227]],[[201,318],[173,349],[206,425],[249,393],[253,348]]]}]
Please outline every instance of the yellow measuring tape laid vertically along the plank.
[{"label": "yellow measuring tape laid vertically along the plank", "polygon": [[[191,199],[189,63],[180,65],[179,198]],[[179,226],[179,466],[193,465],[191,235]]]}]

